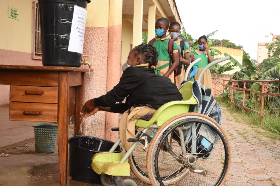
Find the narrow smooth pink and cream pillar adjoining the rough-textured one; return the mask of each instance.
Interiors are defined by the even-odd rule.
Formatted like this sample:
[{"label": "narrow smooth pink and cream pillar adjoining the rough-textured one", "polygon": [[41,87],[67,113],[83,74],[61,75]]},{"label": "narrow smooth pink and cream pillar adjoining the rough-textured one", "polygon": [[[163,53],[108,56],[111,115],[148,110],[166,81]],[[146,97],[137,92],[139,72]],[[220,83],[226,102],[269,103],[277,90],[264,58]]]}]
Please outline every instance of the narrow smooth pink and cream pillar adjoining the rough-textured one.
[{"label": "narrow smooth pink and cream pillar adjoining the rough-textured one", "polygon": [[[142,0],[143,1],[143,0]],[[143,10],[143,9],[142,9]],[[108,66],[107,66],[107,92],[118,84],[121,64],[122,40],[122,0],[109,1],[109,37],[108,37]],[[118,132],[111,130],[119,126],[119,114],[106,112],[105,139],[115,142]]]}]

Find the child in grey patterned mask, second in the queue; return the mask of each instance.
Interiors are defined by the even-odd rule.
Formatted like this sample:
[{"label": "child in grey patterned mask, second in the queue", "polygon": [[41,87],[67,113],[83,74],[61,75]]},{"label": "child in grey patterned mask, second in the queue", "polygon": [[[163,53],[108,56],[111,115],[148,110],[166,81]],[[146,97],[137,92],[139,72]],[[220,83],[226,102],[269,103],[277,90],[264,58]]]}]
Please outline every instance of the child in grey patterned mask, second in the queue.
[{"label": "child in grey patterned mask, second in the queue", "polygon": [[[183,62],[181,74],[179,74],[178,76],[175,77],[175,84],[176,84],[177,88],[179,88],[185,77],[185,67],[184,66],[190,65],[190,56],[189,56],[190,45],[189,45],[189,43],[183,41],[183,39],[179,38],[179,36],[181,36],[181,25],[177,21],[174,21],[169,25],[168,32],[169,32],[171,39],[174,39],[174,41],[176,42],[176,44],[180,50],[179,56]],[[182,44],[182,48],[181,48],[181,44]],[[184,47],[183,47],[183,45],[184,45]]]}]

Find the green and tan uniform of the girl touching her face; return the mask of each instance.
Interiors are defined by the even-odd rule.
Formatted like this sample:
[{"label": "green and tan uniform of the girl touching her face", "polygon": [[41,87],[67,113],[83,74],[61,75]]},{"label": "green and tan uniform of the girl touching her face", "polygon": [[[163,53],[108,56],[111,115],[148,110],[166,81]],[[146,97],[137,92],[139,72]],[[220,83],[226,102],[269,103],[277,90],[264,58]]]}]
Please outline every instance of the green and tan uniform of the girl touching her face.
[{"label": "green and tan uniform of the girl touching her face", "polygon": [[[215,52],[209,52],[210,55],[214,58]],[[203,68],[206,67],[207,64],[209,64],[208,56],[206,51],[203,52],[200,50],[191,51],[191,54],[194,54],[194,60],[198,59],[199,57],[201,58],[201,61],[197,63],[197,73],[194,75],[194,79],[197,79]],[[204,85],[205,89],[212,88],[211,72],[209,69],[204,72],[200,82]]]}]

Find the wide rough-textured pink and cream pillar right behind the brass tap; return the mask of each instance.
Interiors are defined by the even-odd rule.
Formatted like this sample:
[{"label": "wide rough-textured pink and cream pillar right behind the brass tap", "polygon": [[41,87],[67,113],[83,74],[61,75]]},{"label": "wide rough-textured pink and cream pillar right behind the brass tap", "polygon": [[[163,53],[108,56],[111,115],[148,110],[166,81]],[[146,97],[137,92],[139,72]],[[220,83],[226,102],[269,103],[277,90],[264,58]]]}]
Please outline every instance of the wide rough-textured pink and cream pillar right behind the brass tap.
[{"label": "wide rough-textured pink and cream pillar right behind the brass tap", "polygon": [[[91,0],[87,6],[83,55],[88,55],[86,59],[92,64],[93,72],[86,73],[85,102],[107,91],[108,26],[109,0]],[[87,65],[81,67],[88,68]],[[84,118],[80,132],[84,135],[104,138],[105,112],[100,111]]]}]

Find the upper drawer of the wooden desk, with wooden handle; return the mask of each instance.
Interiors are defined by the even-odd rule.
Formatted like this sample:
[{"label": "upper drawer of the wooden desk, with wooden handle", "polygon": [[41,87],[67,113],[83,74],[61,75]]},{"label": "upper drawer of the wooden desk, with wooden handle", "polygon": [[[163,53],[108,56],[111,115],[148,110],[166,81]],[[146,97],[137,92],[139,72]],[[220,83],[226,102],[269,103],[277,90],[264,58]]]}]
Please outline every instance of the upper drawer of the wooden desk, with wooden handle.
[{"label": "upper drawer of the wooden desk, with wooden handle", "polygon": [[11,102],[58,103],[58,87],[10,86]]}]

